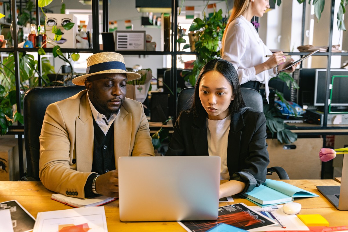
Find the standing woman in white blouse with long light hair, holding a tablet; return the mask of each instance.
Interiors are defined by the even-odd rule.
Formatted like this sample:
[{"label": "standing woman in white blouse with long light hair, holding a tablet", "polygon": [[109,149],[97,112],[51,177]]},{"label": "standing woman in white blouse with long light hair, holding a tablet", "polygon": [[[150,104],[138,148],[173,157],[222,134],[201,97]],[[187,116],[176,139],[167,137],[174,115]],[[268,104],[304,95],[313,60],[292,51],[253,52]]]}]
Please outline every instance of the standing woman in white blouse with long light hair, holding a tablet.
[{"label": "standing woman in white blouse with long light hair, holding a tablet", "polygon": [[[244,84],[241,87],[259,90],[260,82],[264,83],[267,99],[268,80],[294,61],[285,61],[282,51],[272,54],[250,22],[254,16],[262,17],[268,8],[268,0],[235,0],[223,33],[221,48],[222,59],[235,66],[239,83]],[[266,55],[271,56],[266,58]],[[293,72],[296,65],[286,72]]]}]

